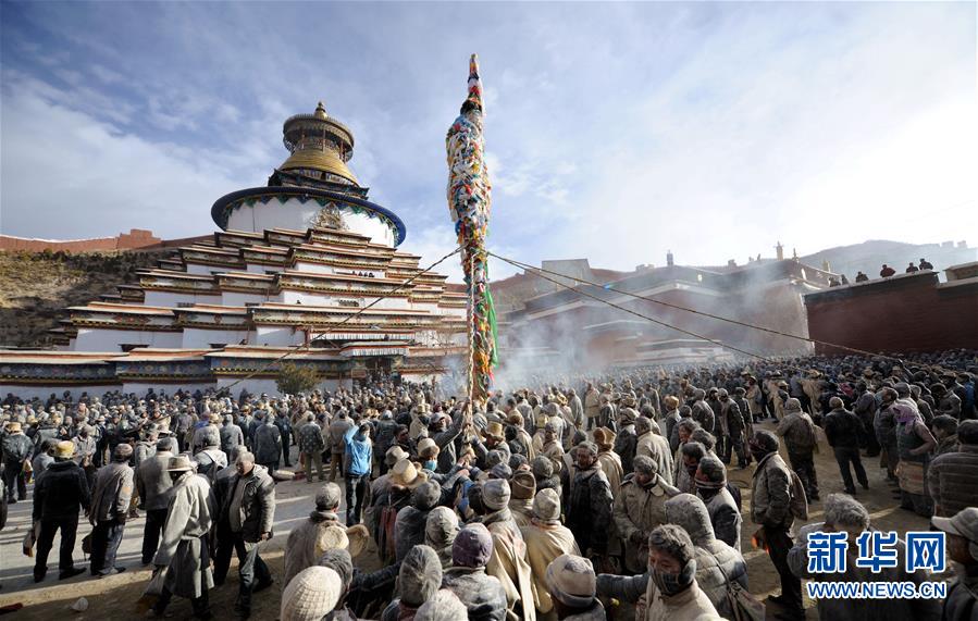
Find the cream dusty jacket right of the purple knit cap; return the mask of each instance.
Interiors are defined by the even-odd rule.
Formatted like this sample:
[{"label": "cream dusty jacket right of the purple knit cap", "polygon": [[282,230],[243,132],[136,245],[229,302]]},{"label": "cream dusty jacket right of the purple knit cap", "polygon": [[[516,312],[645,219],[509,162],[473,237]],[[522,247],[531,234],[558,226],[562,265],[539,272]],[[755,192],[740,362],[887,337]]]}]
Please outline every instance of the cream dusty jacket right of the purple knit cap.
[{"label": "cream dusty jacket right of the purple knit cap", "polygon": [[536,589],[530,563],[527,562],[527,544],[522,533],[508,508],[484,516],[482,523],[493,535],[493,556],[485,566],[485,572],[499,579],[510,610],[520,601],[522,619],[535,621]]}]

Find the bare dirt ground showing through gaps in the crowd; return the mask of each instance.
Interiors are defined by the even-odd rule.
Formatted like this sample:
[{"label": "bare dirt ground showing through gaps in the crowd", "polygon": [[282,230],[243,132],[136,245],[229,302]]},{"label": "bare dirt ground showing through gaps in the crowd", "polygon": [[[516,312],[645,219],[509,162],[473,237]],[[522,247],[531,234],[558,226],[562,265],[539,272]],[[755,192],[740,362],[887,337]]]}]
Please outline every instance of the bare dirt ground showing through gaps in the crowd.
[{"label": "bare dirt ground showing through gaps in the crowd", "polygon": [[[765,429],[771,429],[770,424],[760,425]],[[878,460],[866,459],[864,465],[869,475],[869,490],[859,489],[857,499],[859,499],[872,516],[872,523],[877,529],[889,531],[895,530],[906,532],[911,530],[927,530],[928,521],[914,514],[911,511],[901,509],[899,501],[894,498],[893,487],[886,483],[884,471],[879,468]],[[729,470],[729,477],[734,482],[743,494],[743,505],[746,509],[751,502],[751,475],[753,467],[746,470],[739,470],[735,467]],[[818,472],[818,482],[821,497],[825,498],[831,493],[842,492],[842,480],[839,475],[839,468],[832,458],[831,450],[822,447],[819,455],[816,456],[816,470]],[[288,504],[311,506],[311,497],[313,495],[313,486],[305,486],[296,483],[285,484],[288,487],[282,489],[284,494],[280,495],[281,501]],[[280,486],[281,487],[281,486]],[[301,500],[308,499],[308,502]],[[18,504],[20,505],[20,504]],[[311,507],[310,507],[311,508]],[[302,511],[305,511],[304,509]],[[809,508],[809,522],[821,521],[822,506],[820,502],[814,504]],[[299,511],[299,514],[301,511]],[[287,520],[294,522],[295,519]],[[802,524],[799,524],[801,526]],[[754,549],[751,545],[751,535],[756,526],[751,524],[750,517],[744,514],[744,558],[747,561],[747,571],[751,581],[751,592],[758,598],[764,598],[780,591],[778,574],[763,550]],[[141,530],[141,526],[140,526]],[[7,535],[7,532],[3,533]],[[23,535],[21,535],[23,536]],[[271,620],[278,616],[278,605],[282,585],[280,582],[283,566],[283,550],[287,534],[276,534],[276,536],[268,544],[268,548],[262,551],[262,558],[268,562],[276,583],[269,591],[260,593],[253,598],[252,619]],[[8,536],[3,537],[4,541]],[[81,535],[79,535],[81,539]],[[4,554],[10,554],[11,546],[4,546]],[[51,572],[57,575],[57,548],[52,555],[53,564]],[[358,567],[364,570],[376,569],[376,557],[373,556],[372,549],[366,550],[360,557],[355,559]],[[24,608],[10,614],[10,619],[51,619],[64,618],[65,616],[83,621],[86,619],[103,620],[103,619],[139,619],[143,614],[136,610],[136,601],[143,594],[147,582],[150,577],[150,571],[137,564],[123,563],[127,567],[125,573],[109,576],[102,580],[92,580],[83,574],[79,577],[72,579],[67,583],[52,583],[48,580],[41,585],[35,586],[30,584],[21,591],[12,591],[14,586],[5,584],[0,591],[0,606],[7,606],[14,603],[22,603]],[[232,607],[234,606],[235,596],[237,594],[237,573],[235,571],[237,561],[232,561],[232,570],[228,573],[227,582],[221,588],[211,591],[210,603],[218,619],[232,619]],[[50,575],[50,573],[49,573]],[[88,599],[88,610],[85,612],[73,612],[70,607],[79,597]],[[808,607],[808,619],[816,619],[815,610],[812,608],[813,603],[806,601]],[[618,618],[630,618],[626,609],[618,611]],[[769,617],[773,618],[777,610],[772,607],[768,610]],[[174,598],[168,610],[168,614],[172,619],[190,619],[191,611],[189,601]]]}]

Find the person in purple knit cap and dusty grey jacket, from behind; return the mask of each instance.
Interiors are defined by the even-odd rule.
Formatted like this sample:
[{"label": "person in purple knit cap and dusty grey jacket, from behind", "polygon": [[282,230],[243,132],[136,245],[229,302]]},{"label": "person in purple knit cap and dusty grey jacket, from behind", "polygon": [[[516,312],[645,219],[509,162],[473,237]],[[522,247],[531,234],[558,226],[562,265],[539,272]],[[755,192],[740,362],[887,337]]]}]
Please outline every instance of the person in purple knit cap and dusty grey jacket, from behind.
[{"label": "person in purple knit cap and dusty grey jacket, from behind", "polygon": [[493,556],[493,536],[481,522],[466,524],[451,544],[451,567],[442,576],[442,586],[451,591],[474,621],[504,621],[506,591],[485,571]]}]

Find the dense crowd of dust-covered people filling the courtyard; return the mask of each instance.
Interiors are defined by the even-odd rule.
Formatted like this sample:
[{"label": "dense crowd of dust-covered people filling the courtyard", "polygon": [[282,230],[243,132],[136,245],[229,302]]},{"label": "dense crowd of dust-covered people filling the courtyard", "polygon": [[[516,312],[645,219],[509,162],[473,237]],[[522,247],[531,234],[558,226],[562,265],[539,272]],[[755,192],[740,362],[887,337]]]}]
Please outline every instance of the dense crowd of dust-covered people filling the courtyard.
[{"label": "dense crowd of dust-covered people filling the courtyard", "polygon": [[[33,502],[38,583],[55,535],[58,577],[86,571],[82,517],[87,571],[124,571],[123,532],[145,514],[150,617],[176,595],[211,618],[236,556],[238,618],[277,596],[283,621],[740,621],[766,604],[804,619],[802,580],[831,579],[808,572],[806,533],[871,529],[858,498],[887,485],[948,534],[946,599],[819,599],[819,618],[963,621],[978,614],[976,374],[978,352],[956,350],[527,377],[475,403],[389,381],[285,397],[8,395],[3,508]],[[841,489],[819,485],[826,443]],[[728,480],[747,469],[750,496]],[[310,485],[311,512],[273,576],[261,549],[290,479]],[[797,532],[815,505],[824,520]],[[780,579],[768,601],[751,594],[751,546]],[[835,576],[942,577],[903,562]]]}]

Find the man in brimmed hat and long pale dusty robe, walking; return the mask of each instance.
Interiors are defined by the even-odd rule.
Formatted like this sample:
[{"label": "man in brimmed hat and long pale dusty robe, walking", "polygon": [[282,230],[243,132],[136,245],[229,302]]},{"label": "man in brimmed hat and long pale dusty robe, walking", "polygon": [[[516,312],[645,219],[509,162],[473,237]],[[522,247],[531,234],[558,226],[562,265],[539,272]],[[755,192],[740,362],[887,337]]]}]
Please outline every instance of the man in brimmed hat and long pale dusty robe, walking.
[{"label": "man in brimmed hat and long pale dusty robe, walking", "polygon": [[174,595],[186,597],[198,619],[211,619],[208,591],[213,586],[208,534],[213,523],[210,485],[194,473],[187,455],[170,458],[166,469],[173,480],[166,524],[152,563],[166,572],[163,589],[150,610],[162,618]]}]

